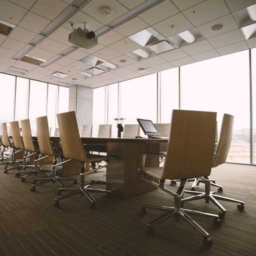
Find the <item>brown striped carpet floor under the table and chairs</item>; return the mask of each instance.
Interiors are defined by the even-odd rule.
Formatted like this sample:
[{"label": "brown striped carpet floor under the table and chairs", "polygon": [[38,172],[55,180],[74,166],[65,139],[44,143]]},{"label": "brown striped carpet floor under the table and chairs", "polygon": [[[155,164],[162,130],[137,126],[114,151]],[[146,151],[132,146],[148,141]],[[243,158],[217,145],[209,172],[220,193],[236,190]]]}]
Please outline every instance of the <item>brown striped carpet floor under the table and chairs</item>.
[{"label": "brown striped carpet floor under the table and chairs", "polygon": [[[1,166],[0,166],[1,167]],[[1,167],[3,168],[3,166]],[[245,210],[223,202],[227,209],[221,227],[212,219],[192,216],[211,235],[211,248],[202,247],[202,237],[182,219],[170,218],[146,233],[145,222],[162,214],[148,210],[141,217],[143,204],[173,205],[173,198],[155,190],[127,200],[94,194],[95,210],[79,195],[52,205],[56,186],[42,185],[30,191],[31,180],[22,183],[15,171],[0,169],[0,255],[256,255],[256,167],[225,164],[212,170],[212,178],[224,186],[223,195],[245,201]],[[89,175],[104,179],[104,172]],[[169,185],[167,185],[169,186]],[[169,186],[170,189],[175,187]],[[200,185],[198,190],[203,190]],[[186,208],[217,213],[212,204],[188,202]]]}]

